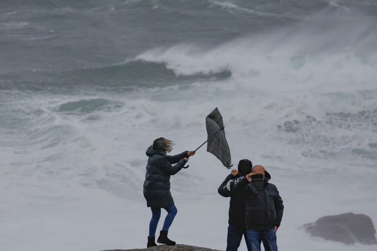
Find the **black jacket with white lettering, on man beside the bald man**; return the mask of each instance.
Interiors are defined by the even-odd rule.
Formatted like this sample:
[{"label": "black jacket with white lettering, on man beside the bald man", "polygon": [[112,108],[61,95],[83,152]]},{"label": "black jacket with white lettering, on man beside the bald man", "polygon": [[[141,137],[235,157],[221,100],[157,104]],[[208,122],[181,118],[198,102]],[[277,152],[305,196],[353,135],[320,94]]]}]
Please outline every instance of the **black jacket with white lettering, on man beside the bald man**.
[{"label": "black jacket with white lettering, on man beside the bald man", "polygon": [[[233,191],[234,184],[245,179],[246,176],[242,174],[229,174],[221,183],[218,192],[221,196],[230,197],[229,203],[229,220],[228,223],[231,227],[245,230],[245,200],[242,193],[235,193]],[[228,184],[228,182],[230,182]],[[227,186],[228,185],[228,186]]]}]

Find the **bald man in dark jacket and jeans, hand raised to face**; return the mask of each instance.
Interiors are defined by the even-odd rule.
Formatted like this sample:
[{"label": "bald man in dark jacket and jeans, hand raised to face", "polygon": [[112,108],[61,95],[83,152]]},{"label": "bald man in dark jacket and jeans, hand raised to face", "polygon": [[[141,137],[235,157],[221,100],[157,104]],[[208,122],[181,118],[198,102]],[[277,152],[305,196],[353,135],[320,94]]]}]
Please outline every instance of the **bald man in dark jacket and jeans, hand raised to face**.
[{"label": "bald man in dark jacket and jeans, hand raised to face", "polygon": [[[261,174],[261,178],[254,176]],[[254,179],[253,179],[254,176]],[[246,179],[234,185],[234,191],[245,194],[246,232],[249,248],[277,251],[276,231],[283,216],[283,200],[275,185],[268,182],[264,167],[256,165]]]}]

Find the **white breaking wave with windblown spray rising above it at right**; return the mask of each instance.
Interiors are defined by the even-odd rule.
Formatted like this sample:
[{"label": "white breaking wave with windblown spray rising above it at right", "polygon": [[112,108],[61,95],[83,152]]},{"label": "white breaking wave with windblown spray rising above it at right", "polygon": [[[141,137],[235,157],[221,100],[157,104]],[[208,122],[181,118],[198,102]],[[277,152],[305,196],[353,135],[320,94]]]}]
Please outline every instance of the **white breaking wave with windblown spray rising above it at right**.
[{"label": "white breaking wave with windblown spray rising above it at right", "polygon": [[[212,49],[195,43],[177,44],[146,51],[135,59],[166,63],[176,75],[229,70],[232,81],[263,92],[374,89],[373,79],[377,77],[374,22],[366,19],[354,24],[350,18],[329,25],[323,32],[318,25],[322,26],[320,20],[326,19],[324,15],[318,14],[293,28],[239,38]],[[309,25],[314,21],[316,25]],[[351,30],[357,26],[356,34],[339,29],[345,24]]]}]

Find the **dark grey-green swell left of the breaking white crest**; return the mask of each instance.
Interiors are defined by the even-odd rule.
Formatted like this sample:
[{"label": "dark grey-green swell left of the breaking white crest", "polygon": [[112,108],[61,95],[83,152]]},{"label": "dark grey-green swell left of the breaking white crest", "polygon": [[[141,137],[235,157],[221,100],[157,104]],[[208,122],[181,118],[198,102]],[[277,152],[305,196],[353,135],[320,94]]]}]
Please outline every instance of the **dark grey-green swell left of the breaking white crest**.
[{"label": "dark grey-green swell left of the breaking white crest", "polygon": [[[198,81],[219,81],[231,77],[231,72],[223,69],[216,72],[193,72],[192,74],[176,74],[166,63],[133,60],[124,64],[111,66],[74,69],[64,72],[23,72],[14,77],[3,75],[0,90],[48,90],[61,89],[69,91],[69,87],[100,87],[104,89],[144,89],[174,86]],[[22,76],[22,77],[20,77]],[[51,81],[51,77],[54,81]],[[9,80],[8,80],[9,79]],[[12,79],[12,80],[11,80]],[[16,79],[16,80],[15,80]],[[37,79],[38,82],[33,81]]]}]

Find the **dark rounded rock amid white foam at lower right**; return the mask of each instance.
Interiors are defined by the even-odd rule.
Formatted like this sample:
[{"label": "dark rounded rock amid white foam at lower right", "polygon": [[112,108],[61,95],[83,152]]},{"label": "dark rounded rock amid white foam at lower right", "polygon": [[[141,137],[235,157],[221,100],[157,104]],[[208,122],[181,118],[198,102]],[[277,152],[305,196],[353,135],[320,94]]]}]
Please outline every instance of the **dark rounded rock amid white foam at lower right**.
[{"label": "dark rounded rock amid white foam at lower right", "polygon": [[312,236],[353,245],[356,242],[377,244],[371,218],[365,214],[338,214],[319,218],[315,223],[303,225]]}]

